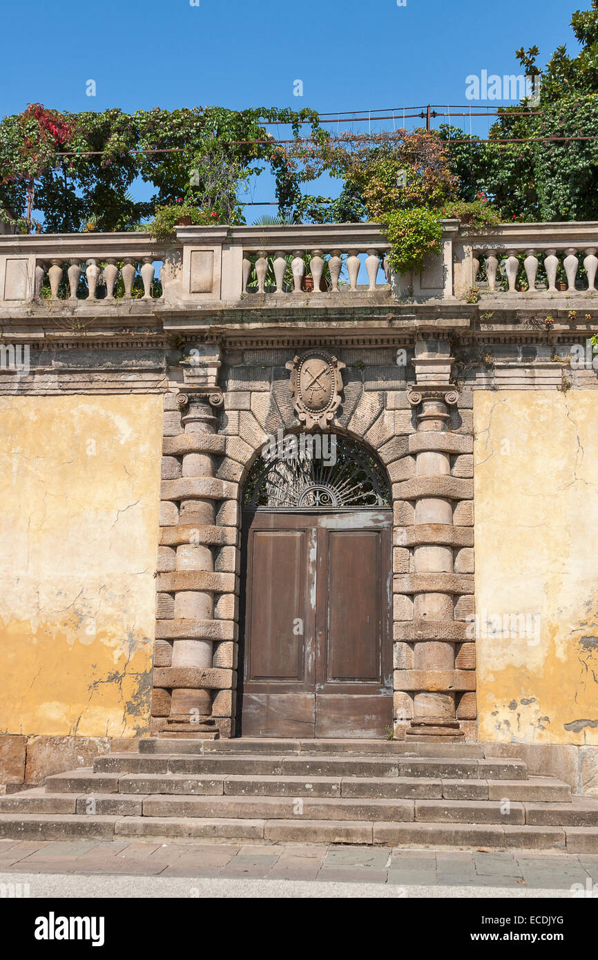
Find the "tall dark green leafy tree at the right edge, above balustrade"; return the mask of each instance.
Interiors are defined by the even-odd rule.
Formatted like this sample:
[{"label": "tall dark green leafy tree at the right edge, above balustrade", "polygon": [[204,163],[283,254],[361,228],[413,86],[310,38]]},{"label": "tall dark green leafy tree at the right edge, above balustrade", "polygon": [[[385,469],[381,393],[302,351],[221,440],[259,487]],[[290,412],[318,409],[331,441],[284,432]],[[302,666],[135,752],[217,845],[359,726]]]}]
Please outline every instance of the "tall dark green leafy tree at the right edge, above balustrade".
[{"label": "tall dark green leafy tree at the right edge, above balustrade", "polygon": [[[598,219],[598,139],[591,139],[598,137],[598,0],[575,12],[571,26],[582,45],[576,56],[562,45],[540,70],[537,46],[516,51],[526,73],[539,78],[538,106],[525,98],[501,108],[488,144],[442,129],[460,196],[485,192],[505,221]],[[516,115],[522,108],[532,115]],[[469,142],[450,143],[456,139]],[[521,142],[500,142],[510,139]]]}]

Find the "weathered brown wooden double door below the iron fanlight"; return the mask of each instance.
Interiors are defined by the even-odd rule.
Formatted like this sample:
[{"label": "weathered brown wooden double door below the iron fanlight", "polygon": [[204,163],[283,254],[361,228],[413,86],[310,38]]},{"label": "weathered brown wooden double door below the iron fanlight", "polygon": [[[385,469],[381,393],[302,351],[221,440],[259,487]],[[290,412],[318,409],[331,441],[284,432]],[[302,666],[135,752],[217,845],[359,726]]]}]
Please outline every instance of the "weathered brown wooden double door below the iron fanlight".
[{"label": "weathered brown wooden double door below the iron fanlight", "polygon": [[243,563],[242,735],[383,737],[392,511],[246,513]]}]

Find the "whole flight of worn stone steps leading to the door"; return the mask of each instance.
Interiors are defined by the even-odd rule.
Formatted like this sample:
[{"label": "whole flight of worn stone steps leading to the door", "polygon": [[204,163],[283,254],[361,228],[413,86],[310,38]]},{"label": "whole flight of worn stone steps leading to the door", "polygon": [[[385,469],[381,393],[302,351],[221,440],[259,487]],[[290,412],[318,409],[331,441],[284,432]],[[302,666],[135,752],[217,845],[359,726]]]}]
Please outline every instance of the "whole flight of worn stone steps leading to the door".
[{"label": "whole flight of worn stone steps leading to the door", "polygon": [[0,798],[0,838],[598,853],[598,800],[484,744],[142,740]]}]

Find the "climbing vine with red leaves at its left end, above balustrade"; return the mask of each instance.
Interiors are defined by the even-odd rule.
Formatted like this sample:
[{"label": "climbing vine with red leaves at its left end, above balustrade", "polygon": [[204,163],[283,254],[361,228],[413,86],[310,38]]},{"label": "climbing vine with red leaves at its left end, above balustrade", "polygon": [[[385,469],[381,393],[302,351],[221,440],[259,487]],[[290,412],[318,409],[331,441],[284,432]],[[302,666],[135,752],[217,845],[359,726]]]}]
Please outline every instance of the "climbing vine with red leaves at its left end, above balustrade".
[{"label": "climbing vine with red leaves at its left end, above balustrade", "polygon": [[[219,107],[60,113],[30,105],[0,122],[0,207],[27,230],[132,229],[156,206],[179,198],[238,223],[238,186],[269,165],[276,200],[289,208],[309,177],[292,151],[276,144],[266,122],[305,127],[325,138],[313,110]],[[256,142],[257,141],[257,142]],[[261,142],[260,142],[261,141]],[[155,192],[135,200],[140,178]]]}]

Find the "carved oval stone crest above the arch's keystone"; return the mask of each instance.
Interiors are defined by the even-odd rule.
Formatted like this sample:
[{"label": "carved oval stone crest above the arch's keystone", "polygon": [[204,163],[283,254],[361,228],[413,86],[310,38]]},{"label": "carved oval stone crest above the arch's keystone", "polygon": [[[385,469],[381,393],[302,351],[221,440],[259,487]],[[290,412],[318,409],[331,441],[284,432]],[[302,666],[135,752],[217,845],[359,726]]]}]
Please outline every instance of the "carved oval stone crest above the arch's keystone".
[{"label": "carved oval stone crest above the arch's keystone", "polygon": [[308,430],[325,427],[334,417],[341,404],[344,367],[322,350],[308,350],[286,364],[291,371],[293,406]]}]

